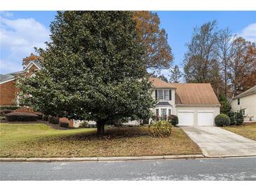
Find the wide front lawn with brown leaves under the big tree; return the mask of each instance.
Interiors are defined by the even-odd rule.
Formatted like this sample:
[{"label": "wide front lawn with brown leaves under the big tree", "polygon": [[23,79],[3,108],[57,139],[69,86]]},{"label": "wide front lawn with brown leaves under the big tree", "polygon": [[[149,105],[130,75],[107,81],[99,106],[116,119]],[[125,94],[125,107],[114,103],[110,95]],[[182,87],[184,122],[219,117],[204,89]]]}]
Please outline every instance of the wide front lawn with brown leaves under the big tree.
[{"label": "wide front lawn with brown leaves under the big tree", "polygon": [[1,157],[95,157],[201,154],[180,128],[166,138],[151,137],[146,127],[107,128],[97,137],[95,128],[54,130],[41,123],[1,123]]}]

